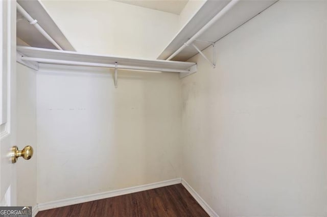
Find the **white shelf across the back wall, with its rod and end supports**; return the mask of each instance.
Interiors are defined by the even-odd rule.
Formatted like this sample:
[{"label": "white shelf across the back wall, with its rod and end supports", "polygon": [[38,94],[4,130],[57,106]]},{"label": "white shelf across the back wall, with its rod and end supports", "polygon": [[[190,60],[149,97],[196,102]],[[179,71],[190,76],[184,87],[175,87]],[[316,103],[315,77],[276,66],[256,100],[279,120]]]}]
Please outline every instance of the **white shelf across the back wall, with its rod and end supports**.
[{"label": "white shelf across the back wall, with its rod and end supports", "polygon": [[116,69],[179,72],[184,77],[197,71],[196,63],[126,58],[75,51],[17,46],[17,61],[38,70],[39,63],[94,66]]}]

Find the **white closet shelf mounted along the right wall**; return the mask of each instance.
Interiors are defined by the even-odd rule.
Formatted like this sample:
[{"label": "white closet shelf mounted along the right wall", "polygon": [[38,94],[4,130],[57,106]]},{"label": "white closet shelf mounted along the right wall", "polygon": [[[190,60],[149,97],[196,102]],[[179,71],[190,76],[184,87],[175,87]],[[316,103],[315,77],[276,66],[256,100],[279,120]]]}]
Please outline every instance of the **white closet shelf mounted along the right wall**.
[{"label": "white closet shelf mounted along the right wall", "polygon": [[[158,59],[186,61],[195,56],[199,52],[198,49],[203,50],[211,46],[212,42],[216,42],[230,32],[236,30],[239,26],[260,14],[277,1],[278,0],[205,1],[201,8],[161,52]],[[228,8],[229,4],[232,2],[235,4]],[[224,10],[226,11],[223,12]],[[220,13],[222,13],[222,15],[219,16],[218,19],[215,19]],[[208,23],[211,24],[202,32],[201,29]],[[199,34],[200,31],[202,32],[201,34]],[[195,49],[192,43],[189,44],[189,40],[195,36],[197,36],[195,38],[196,40],[192,43],[196,45],[198,49]],[[179,49],[181,49],[180,52],[172,56]],[[211,58],[212,57],[210,57],[210,59]]]}]

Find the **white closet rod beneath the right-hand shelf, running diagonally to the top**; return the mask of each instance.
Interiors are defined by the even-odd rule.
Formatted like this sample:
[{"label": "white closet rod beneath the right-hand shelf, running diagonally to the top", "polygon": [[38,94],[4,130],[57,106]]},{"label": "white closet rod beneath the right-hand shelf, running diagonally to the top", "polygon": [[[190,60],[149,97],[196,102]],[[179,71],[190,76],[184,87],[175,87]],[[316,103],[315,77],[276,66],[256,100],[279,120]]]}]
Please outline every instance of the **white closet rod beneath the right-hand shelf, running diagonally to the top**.
[{"label": "white closet rod beneath the right-hand shelf, running diagonally to the top", "polygon": [[214,16],[209,22],[207,22],[192,38],[186,41],[180,48],[178,48],[169,58],[166,60],[173,59],[180,51],[185,47],[191,45],[200,35],[202,35],[207,29],[209,29],[218,19],[220,19],[226,12],[228,12],[233,6],[235,6],[240,0],[231,0],[218,14]]}]

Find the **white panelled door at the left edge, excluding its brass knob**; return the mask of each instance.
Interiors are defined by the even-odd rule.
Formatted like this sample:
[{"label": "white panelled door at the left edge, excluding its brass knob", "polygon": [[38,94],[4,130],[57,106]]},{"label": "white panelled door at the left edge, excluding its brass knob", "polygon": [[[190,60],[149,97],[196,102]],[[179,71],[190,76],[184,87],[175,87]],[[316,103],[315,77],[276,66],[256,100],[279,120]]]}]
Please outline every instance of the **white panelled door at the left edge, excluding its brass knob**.
[{"label": "white panelled door at the left edge, excluding its brass knob", "polygon": [[15,206],[16,164],[10,154],[16,145],[16,1],[0,0],[0,12],[0,200],[1,206]]}]

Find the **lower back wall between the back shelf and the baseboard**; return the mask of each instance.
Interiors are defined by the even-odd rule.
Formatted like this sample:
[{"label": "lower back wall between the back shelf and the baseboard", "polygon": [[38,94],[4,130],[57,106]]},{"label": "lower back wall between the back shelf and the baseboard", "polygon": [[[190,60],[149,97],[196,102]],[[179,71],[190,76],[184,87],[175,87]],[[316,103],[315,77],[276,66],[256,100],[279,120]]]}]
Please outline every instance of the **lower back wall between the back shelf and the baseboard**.
[{"label": "lower back wall between the back shelf and the baseboard", "polygon": [[38,203],[181,176],[177,73],[61,68],[37,74]]}]

